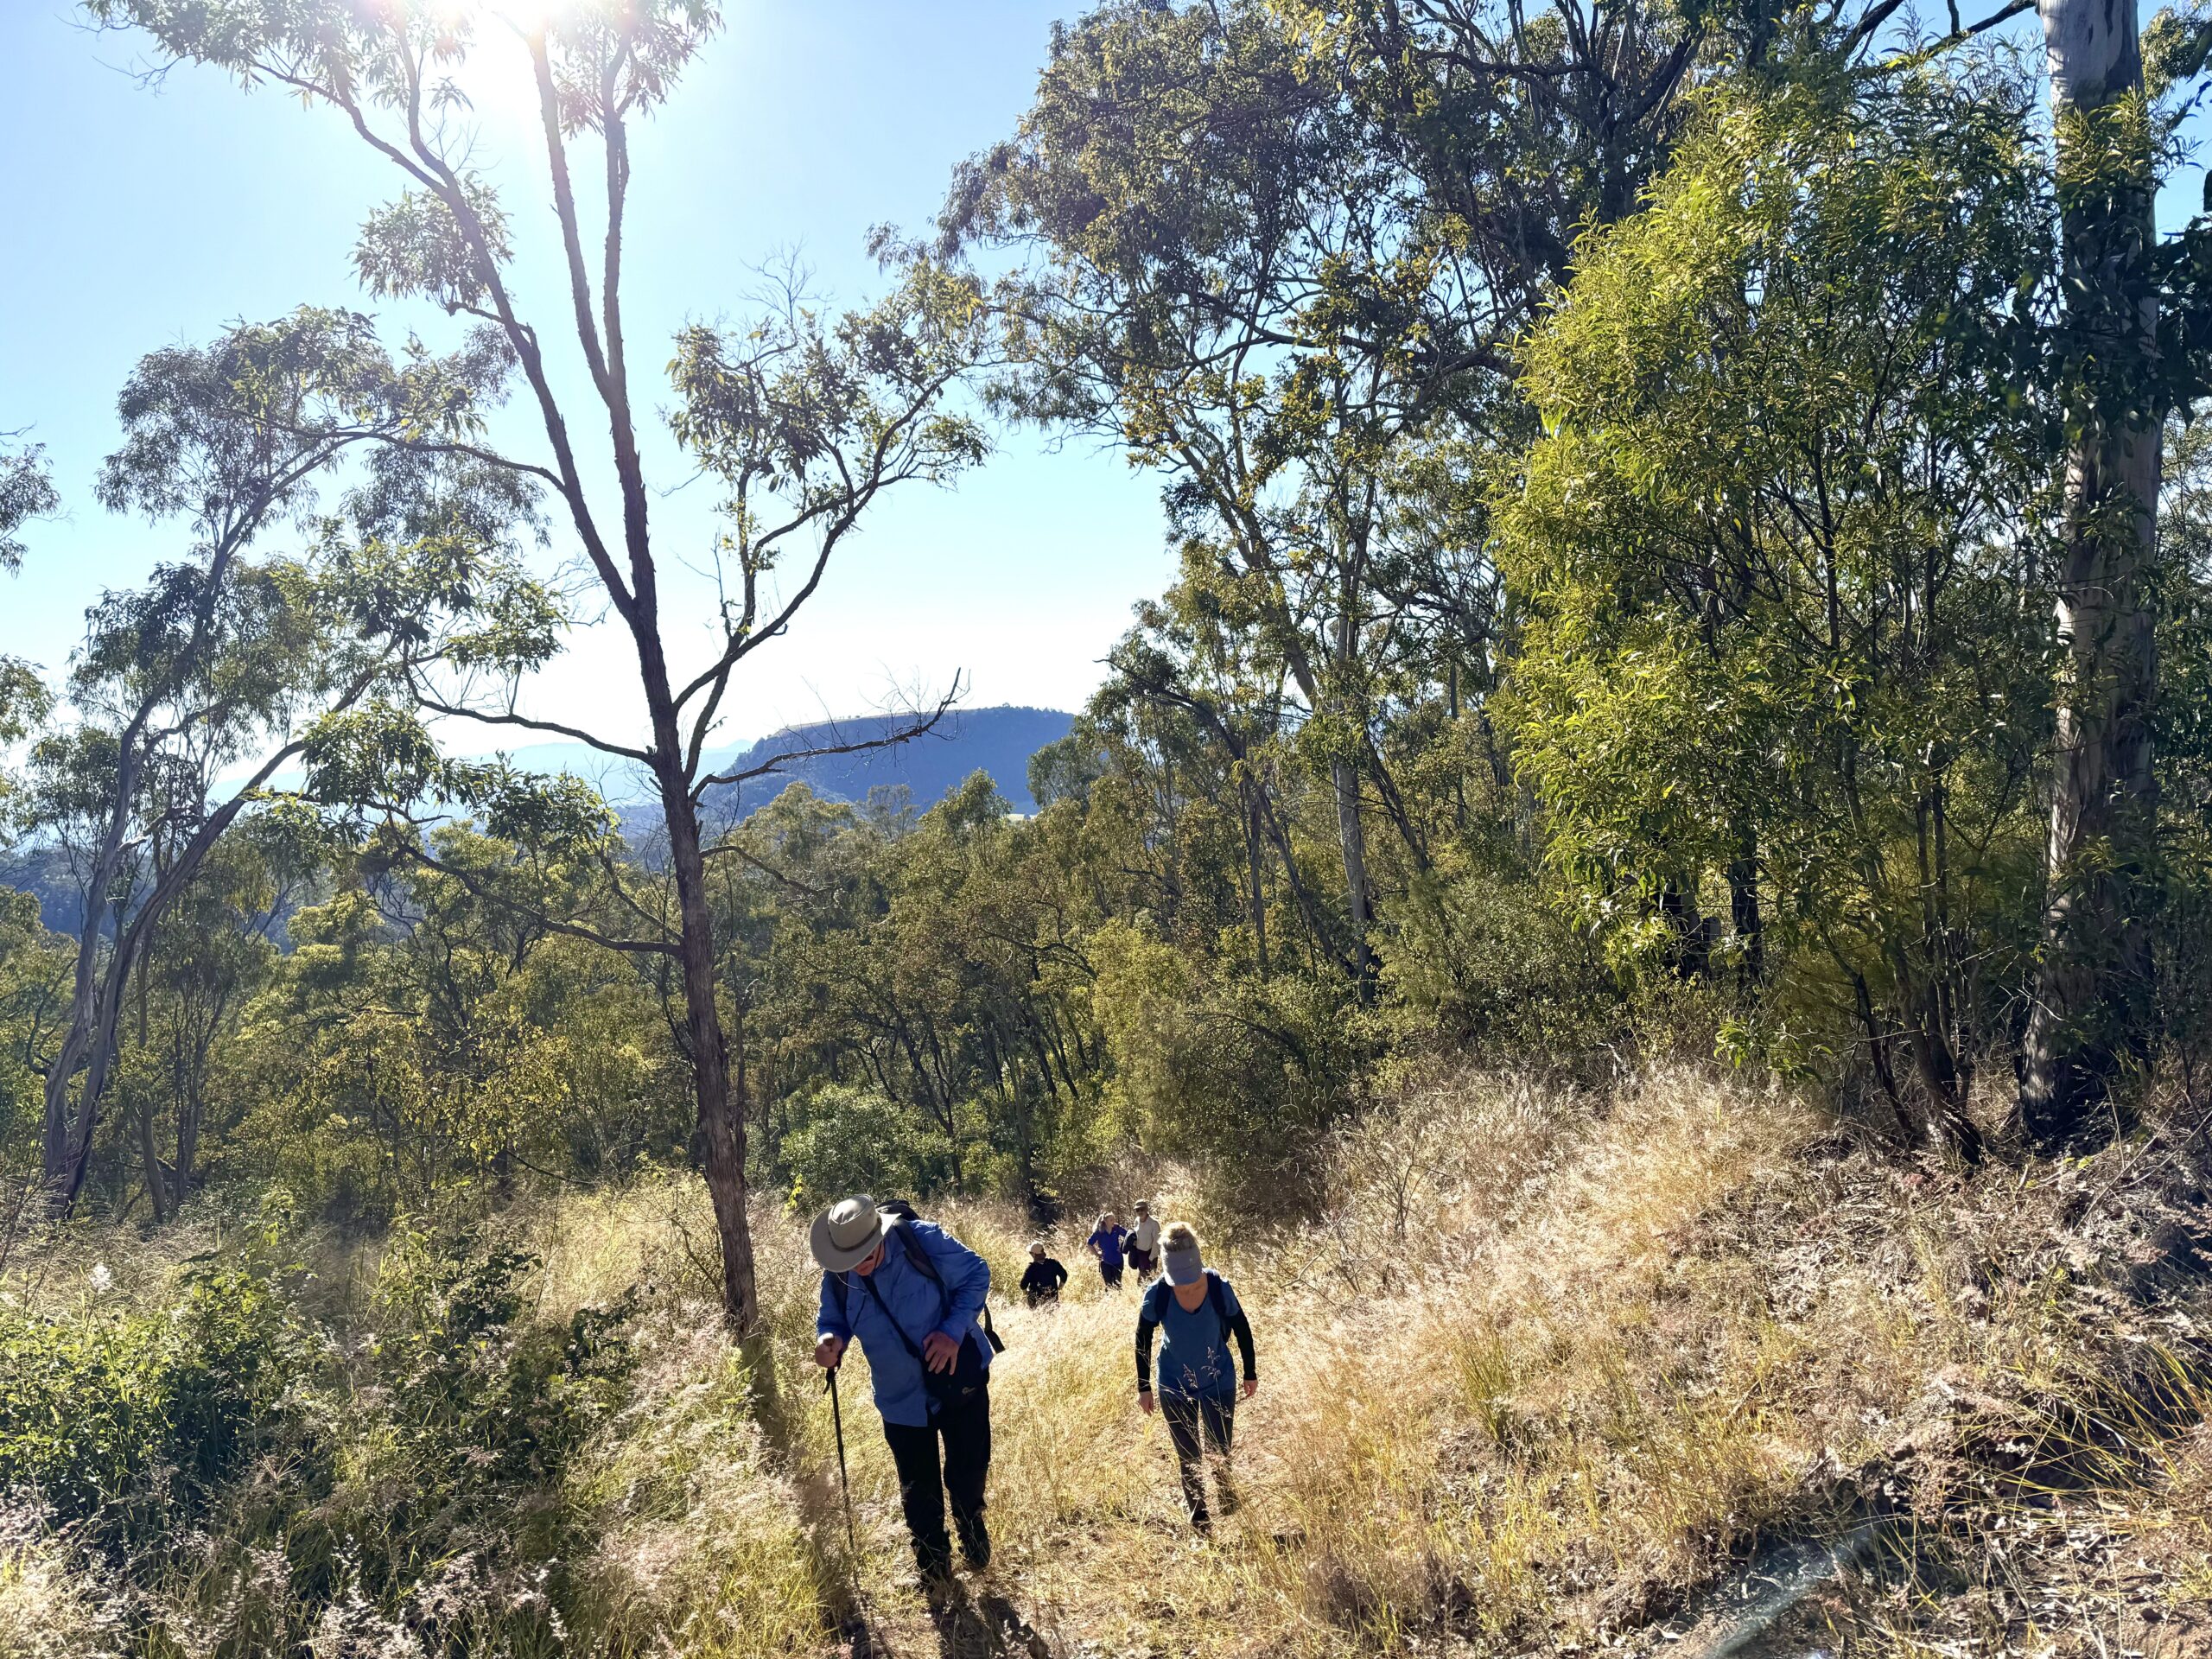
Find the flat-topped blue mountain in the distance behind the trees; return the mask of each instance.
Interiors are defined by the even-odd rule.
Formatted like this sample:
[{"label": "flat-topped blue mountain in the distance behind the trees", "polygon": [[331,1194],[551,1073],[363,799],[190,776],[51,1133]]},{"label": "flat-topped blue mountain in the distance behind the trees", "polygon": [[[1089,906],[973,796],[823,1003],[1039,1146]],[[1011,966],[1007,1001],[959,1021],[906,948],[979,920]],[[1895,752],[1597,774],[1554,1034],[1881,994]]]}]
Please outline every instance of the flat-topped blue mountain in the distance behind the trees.
[{"label": "flat-topped blue mountain in the distance behind the trees", "polygon": [[[710,818],[730,823],[765,807],[792,783],[805,783],[830,801],[865,801],[869,790],[905,785],[914,792],[916,810],[927,812],[973,772],[989,772],[1006,805],[1015,812],[1035,812],[1037,803],[1029,794],[1029,757],[1066,737],[1073,721],[1073,714],[1057,708],[956,708],[922,737],[860,754],[792,761],[781,772],[712,790],[706,807]],[[717,761],[714,770],[741,772],[794,750],[880,741],[905,723],[898,714],[865,714],[794,726],[763,737],[728,761]]]}]

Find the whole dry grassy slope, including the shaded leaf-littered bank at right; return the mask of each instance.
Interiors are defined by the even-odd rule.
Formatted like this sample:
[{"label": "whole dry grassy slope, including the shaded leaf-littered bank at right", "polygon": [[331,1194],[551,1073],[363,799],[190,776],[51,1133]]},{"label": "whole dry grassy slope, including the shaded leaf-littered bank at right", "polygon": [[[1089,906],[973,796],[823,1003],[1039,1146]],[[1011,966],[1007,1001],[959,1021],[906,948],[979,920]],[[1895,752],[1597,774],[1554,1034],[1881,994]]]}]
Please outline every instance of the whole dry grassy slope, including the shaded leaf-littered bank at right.
[{"label": "whole dry grassy slope, including the shaded leaf-littered bank at right", "polygon": [[[544,1312],[653,1285],[635,1402],[562,1493],[597,1537],[577,1648],[1694,1650],[1778,1540],[1851,1535],[1856,1571],[1790,1615],[1807,1648],[2190,1650],[2212,1444],[2172,1365],[2203,1316],[2188,1150],[1960,1186],[1703,1073],[1604,1108],[1482,1079],[1409,1099],[1343,1148],[1327,1223],[1217,1241],[1263,1374],[1217,1544],[1135,1411],[1133,1296],[1077,1272],[1055,1312],[1004,1307],[1000,1559],[942,1628],[858,1365],[845,1557],[799,1228],[761,1228],[785,1475],[710,1318],[690,1183],[568,1201],[533,1221]],[[1013,1283],[1013,1217],[947,1219]],[[42,1571],[0,1537],[0,1648]]]}]

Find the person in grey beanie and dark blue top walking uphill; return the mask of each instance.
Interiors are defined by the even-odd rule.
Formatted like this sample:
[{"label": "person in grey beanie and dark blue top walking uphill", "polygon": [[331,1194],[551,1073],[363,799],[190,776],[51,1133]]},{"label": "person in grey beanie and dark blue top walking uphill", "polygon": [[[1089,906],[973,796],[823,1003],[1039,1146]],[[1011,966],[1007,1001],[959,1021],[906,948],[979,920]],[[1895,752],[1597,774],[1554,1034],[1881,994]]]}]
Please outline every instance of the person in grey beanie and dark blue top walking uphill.
[{"label": "person in grey beanie and dark blue top walking uphill", "polygon": [[1152,1281],[1137,1305],[1137,1405],[1152,1411],[1152,1332],[1159,1332],[1159,1413],[1168,1420],[1175,1462],[1183,1475],[1190,1524],[1212,1531],[1206,1513],[1206,1451],[1219,1455],[1214,1491],[1223,1515],[1237,1513],[1230,1484],[1230,1440],[1237,1431],[1237,1371],[1230,1369],[1230,1338],[1243,1358],[1243,1398],[1259,1394],[1252,1365],[1252,1321],[1245,1318],[1230,1281],[1199,1256],[1199,1234],[1177,1221],[1161,1239],[1168,1259],[1164,1279]]}]

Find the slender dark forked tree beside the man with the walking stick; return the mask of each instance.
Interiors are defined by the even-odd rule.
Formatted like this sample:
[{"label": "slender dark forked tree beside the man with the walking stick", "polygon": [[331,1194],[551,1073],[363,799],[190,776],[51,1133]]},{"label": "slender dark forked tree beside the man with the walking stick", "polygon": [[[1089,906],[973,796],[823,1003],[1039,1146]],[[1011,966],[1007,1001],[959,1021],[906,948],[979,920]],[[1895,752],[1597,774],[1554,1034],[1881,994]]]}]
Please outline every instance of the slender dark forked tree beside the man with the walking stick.
[{"label": "slender dark forked tree beside the man with the walking stick", "polygon": [[[726,491],[723,533],[706,553],[717,595],[670,591],[657,540],[648,440],[630,365],[628,208],[633,133],[672,95],[719,27],[710,0],[498,0],[438,7],[358,0],[88,0],[108,24],[142,29],[173,60],[217,66],[241,86],[274,86],[332,113],[396,173],[400,195],[369,215],[356,248],[378,296],[420,296],[469,319],[520,369],[535,451],[478,447],[484,465],[542,487],[637,664],[641,717],[591,728],[540,719],[513,686],[471,697],[420,675],[418,706],[500,730],[582,741],[653,779],[668,836],[675,914],[635,907],[637,927],[604,942],[679,967],[681,1031],[692,1066],[706,1181],[723,1259],[723,1305],[752,1332],[743,1110],[717,1006],[717,945],[701,799],[739,781],[703,752],[730,712],[734,675],[787,633],[821,588],[832,553],[889,487],[942,480],[982,453],[980,429],[947,398],[982,345],[971,283],[916,263],[874,310],[823,316],[781,303],[757,323],[681,332],[672,427],[688,467]],[[487,60],[526,75],[542,139],[549,243],[542,272],[557,301],[540,316],[518,270],[511,204],[489,181],[469,119]],[[495,73],[498,64],[489,64]],[[599,230],[597,248],[588,230]],[[719,296],[708,296],[708,305]],[[602,431],[593,445],[584,434]],[[686,549],[695,555],[699,549]],[[686,659],[699,611],[703,659]],[[405,748],[405,745],[403,745]],[[776,761],[763,763],[768,770]]]}]

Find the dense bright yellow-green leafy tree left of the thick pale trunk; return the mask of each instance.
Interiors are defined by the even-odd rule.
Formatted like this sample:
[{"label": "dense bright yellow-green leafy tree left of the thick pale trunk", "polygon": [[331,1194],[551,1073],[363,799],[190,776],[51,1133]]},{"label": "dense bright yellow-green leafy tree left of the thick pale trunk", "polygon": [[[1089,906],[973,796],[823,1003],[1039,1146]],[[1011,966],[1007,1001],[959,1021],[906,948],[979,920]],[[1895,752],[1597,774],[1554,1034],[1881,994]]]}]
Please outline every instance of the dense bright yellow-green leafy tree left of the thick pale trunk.
[{"label": "dense bright yellow-green leafy tree left of the thick pale trunk", "polygon": [[1856,1026],[1907,1135],[1969,1155],[2051,730],[2017,526],[2053,456],[2004,396],[2046,223],[2015,77],[1714,111],[1533,336],[1500,507],[1517,761],[1586,918],[1632,947],[1650,872],[1750,856],[1778,1048]]}]

